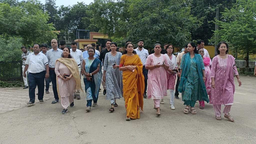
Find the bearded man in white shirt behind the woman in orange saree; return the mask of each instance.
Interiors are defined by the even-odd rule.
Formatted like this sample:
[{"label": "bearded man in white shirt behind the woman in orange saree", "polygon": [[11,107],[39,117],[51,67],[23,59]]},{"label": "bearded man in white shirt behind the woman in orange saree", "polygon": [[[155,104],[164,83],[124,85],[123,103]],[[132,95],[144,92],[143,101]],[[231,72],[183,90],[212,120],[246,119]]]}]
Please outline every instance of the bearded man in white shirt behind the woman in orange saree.
[{"label": "bearded man in white shirt behind the woman in orange saree", "polygon": [[144,41],[142,39],[140,39],[138,41],[138,47],[136,49],[134,49],[134,51],[137,53],[137,55],[140,57],[141,62],[142,62],[142,73],[144,75],[144,84],[145,84],[145,88],[144,88],[144,98],[147,98],[147,74],[148,74],[148,70],[145,68],[146,65],[146,59],[148,57],[148,50],[143,48],[144,46]]}]

